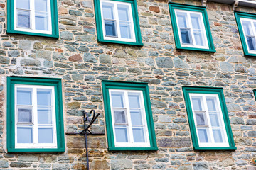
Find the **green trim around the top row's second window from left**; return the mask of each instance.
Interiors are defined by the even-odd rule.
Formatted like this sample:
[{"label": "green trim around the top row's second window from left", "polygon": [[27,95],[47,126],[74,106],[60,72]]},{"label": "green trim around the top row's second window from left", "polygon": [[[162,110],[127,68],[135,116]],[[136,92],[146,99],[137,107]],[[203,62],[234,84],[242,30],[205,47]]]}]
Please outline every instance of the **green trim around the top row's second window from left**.
[{"label": "green trim around the top row's second window from left", "polygon": [[123,45],[137,45],[143,46],[142,43],[142,35],[139,27],[139,15],[137,10],[137,2],[136,0],[112,0],[112,1],[120,1],[125,3],[130,3],[132,7],[132,18],[134,21],[134,33],[136,42],[124,42],[124,41],[117,41],[117,40],[105,40],[103,36],[103,26],[102,26],[102,17],[100,12],[100,0],[95,0],[95,21],[96,21],[96,28],[97,28],[97,41],[98,42],[107,42],[107,43],[114,43],[114,44],[123,44]]}]

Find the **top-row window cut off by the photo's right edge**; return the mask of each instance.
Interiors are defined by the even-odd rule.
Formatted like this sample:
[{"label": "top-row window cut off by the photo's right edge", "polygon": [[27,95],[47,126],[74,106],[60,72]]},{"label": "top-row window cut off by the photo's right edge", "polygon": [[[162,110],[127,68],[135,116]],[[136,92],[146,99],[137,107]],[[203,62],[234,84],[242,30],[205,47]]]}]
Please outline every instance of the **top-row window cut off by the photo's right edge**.
[{"label": "top-row window cut off by the photo's right edge", "polygon": [[245,56],[256,56],[256,14],[235,11]]}]

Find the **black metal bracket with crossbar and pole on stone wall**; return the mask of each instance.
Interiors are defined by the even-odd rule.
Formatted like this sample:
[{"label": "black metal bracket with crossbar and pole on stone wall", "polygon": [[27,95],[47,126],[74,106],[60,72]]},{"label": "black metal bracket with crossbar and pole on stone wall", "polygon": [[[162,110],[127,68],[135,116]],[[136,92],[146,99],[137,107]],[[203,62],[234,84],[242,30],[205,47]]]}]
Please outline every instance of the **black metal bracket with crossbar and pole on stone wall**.
[{"label": "black metal bracket with crossbar and pole on stone wall", "polygon": [[[83,120],[84,120],[84,130],[82,132],[78,133],[65,133],[66,135],[85,135],[85,149],[86,149],[86,161],[87,161],[87,170],[89,170],[89,155],[88,155],[88,147],[87,147],[87,135],[105,135],[105,133],[92,133],[89,128],[92,125],[92,123],[95,122],[95,120],[99,117],[100,113],[97,113],[95,115],[95,110],[90,111],[90,115],[92,114],[92,120],[89,120],[88,114],[85,111],[82,111],[83,113]],[[90,121],[88,125],[86,125],[86,122]]]}]

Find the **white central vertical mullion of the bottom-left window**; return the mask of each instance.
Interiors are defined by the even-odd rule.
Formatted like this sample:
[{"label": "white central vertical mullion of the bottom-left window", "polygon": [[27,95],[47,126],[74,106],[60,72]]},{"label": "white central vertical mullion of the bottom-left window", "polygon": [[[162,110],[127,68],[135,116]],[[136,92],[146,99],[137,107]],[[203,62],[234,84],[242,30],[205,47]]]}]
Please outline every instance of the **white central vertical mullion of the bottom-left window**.
[{"label": "white central vertical mullion of the bottom-left window", "polygon": [[33,87],[33,143],[38,144],[38,105],[36,96],[36,87]]}]

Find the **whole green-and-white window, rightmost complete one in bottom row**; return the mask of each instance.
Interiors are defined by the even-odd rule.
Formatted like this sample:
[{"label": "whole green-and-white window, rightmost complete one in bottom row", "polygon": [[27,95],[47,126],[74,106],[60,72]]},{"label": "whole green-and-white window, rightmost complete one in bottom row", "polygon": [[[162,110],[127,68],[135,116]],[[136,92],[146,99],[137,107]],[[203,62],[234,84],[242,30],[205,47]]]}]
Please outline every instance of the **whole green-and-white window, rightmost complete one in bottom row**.
[{"label": "whole green-and-white window, rightmost complete one in bottom row", "polygon": [[[223,89],[213,88],[213,87],[199,87],[199,86],[198,87],[183,86],[182,89],[183,89],[183,95],[186,103],[186,111],[188,114],[188,123],[191,130],[193,149],[194,150],[235,150],[237,149],[235,147],[235,142],[233,140],[233,134],[230,126],[230,120],[228,117],[227,106],[225,105]],[[197,100],[198,100],[198,105],[196,105]],[[193,102],[193,105],[191,104],[192,102]],[[214,104],[212,104],[212,106],[215,105],[214,106],[215,109],[211,109],[213,107],[211,107],[210,103],[208,102],[213,102]],[[196,110],[197,106],[200,106],[200,108],[198,107],[198,110]],[[200,130],[200,135],[199,135],[199,130]],[[202,130],[205,132],[202,133],[203,132]],[[219,133],[216,133],[216,130]],[[212,136],[210,137],[210,135]],[[203,137],[206,137],[207,140],[201,142],[200,140],[202,140]],[[220,139],[222,142],[215,142],[215,140],[220,141]]]}]

